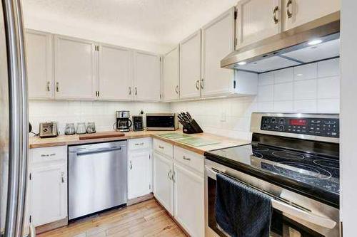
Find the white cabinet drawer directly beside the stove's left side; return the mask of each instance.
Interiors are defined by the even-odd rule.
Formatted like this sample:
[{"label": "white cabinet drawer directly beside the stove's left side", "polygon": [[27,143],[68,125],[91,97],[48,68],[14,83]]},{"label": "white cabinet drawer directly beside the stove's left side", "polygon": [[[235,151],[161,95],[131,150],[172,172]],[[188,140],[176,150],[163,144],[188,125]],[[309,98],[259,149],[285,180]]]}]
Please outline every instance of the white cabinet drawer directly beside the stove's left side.
[{"label": "white cabinet drawer directly beside the stove's left side", "polygon": [[203,174],[204,157],[181,147],[174,147],[174,159]]}]

